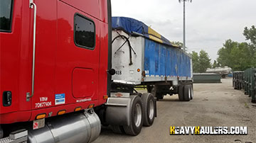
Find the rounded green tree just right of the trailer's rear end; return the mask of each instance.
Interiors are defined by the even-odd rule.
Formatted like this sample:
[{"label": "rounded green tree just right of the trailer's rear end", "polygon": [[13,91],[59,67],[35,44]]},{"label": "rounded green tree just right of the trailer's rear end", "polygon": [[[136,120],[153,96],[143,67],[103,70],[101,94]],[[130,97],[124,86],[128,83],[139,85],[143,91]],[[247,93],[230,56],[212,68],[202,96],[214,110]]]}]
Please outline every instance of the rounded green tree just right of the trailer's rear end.
[{"label": "rounded green tree just right of the trailer's rear end", "polygon": [[198,71],[200,73],[206,72],[206,69],[211,67],[210,56],[206,51],[204,50],[200,51],[198,64],[199,64]]}]

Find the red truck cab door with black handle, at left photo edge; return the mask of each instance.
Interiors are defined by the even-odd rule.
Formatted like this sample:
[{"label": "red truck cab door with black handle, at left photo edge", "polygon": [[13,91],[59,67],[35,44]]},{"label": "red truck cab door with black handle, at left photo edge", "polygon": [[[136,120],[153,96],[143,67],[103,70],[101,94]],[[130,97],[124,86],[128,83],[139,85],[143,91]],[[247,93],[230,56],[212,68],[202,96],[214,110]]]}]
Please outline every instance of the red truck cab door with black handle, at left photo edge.
[{"label": "red truck cab door with black handle, at left photo edge", "polygon": [[26,101],[26,93],[31,92],[33,11],[28,3],[0,1],[0,124],[31,117],[31,101]]}]

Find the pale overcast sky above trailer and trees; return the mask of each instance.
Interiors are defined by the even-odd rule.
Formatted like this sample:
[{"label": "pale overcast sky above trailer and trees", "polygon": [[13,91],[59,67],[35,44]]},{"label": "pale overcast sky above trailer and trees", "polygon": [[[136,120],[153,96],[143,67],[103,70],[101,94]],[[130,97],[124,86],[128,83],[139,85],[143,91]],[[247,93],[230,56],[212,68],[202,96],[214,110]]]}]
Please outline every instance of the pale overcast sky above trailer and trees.
[{"label": "pale overcast sky above trailer and trees", "polygon": [[[112,16],[135,18],[165,38],[183,42],[183,4],[178,0],[112,0]],[[188,52],[206,50],[212,62],[225,40],[245,42],[243,30],[251,25],[256,25],[255,0],[186,2]]]}]

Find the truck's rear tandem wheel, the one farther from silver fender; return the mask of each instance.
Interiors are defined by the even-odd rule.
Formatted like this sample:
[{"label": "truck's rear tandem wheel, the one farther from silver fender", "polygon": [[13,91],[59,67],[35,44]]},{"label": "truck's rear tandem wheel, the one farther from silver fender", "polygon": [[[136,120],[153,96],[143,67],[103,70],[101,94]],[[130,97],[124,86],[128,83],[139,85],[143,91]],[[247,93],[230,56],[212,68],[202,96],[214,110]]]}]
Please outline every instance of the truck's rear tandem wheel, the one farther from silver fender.
[{"label": "truck's rear tandem wheel, the one farther from silver fender", "polygon": [[144,111],[144,122],[143,125],[149,127],[154,122],[154,96],[151,93],[142,94],[142,110]]}]

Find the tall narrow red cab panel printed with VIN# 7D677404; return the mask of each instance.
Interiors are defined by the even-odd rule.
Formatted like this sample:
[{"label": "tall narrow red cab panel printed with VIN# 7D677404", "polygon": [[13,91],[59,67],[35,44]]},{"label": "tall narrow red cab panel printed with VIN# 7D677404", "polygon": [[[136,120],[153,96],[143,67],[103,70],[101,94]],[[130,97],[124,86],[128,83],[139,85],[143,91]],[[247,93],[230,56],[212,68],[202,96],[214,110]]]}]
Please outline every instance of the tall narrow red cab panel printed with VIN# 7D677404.
[{"label": "tall narrow red cab panel printed with VIN# 7D677404", "polygon": [[36,4],[36,36],[34,37],[36,47],[34,94],[31,99],[32,110],[35,110],[54,106],[57,4],[56,0],[34,0],[33,2]]}]

